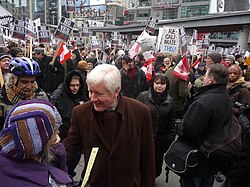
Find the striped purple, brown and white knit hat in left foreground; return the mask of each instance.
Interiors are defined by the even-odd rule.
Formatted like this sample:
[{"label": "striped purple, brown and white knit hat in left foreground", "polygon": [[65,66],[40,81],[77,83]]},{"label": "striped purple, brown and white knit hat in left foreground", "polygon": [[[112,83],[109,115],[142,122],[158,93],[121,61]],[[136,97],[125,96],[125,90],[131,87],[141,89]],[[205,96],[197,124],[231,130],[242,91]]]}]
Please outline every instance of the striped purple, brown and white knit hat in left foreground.
[{"label": "striped purple, brown and white knit hat in left foreground", "polygon": [[9,112],[0,134],[2,151],[24,160],[42,152],[55,130],[61,125],[55,106],[42,99],[26,100]]}]

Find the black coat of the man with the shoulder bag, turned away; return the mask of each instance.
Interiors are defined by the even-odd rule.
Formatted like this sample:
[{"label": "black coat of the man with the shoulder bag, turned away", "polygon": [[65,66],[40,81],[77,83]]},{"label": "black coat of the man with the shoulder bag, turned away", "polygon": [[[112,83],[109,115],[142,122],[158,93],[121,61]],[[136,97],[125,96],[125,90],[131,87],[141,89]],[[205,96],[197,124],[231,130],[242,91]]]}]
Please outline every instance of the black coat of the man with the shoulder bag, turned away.
[{"label": "black coat of the man with the shoulder bag, turned away", "polygon": [[[183,123],[178,125],[177,133],[184,142],[199,149],[201,144],[218,128],[224,127],[228,116],[232,115],[232,105],[226,85],[212,84],[203,86],[200,95],[189,106]],[[223,142],[225,137],[218,137]],[[221,166],[220,160],[206,158],[199,154],[197,166],[187,175],[205,177],[216,174]]]}]

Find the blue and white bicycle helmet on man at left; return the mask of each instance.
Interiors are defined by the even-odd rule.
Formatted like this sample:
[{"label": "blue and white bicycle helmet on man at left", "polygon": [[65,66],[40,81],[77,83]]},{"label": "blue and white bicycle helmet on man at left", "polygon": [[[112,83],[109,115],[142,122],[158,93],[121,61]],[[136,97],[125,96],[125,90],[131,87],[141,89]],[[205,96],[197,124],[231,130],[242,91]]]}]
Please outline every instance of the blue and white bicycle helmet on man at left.
[{"label": "blue and white bicycle helmet on man at left", "polygon": [[14,75],[34,75],[40,74],[39,64],[27,57],[13,58],[10,63],[10,72]]}]

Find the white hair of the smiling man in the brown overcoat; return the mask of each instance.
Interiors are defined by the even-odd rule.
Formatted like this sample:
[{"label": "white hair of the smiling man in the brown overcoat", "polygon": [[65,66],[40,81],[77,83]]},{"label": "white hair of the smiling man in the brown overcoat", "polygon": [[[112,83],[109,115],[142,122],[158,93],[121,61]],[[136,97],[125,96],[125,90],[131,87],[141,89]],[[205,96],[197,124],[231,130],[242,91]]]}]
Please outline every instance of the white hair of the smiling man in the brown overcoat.
[{"label": "white hair of the smiling man in the brown overcoat", "polygon": [[115,93],[121,88],[121,74],[118,68],[111,64],[100,64],[87,75],[88,85],[103,83],[110,93]]}]

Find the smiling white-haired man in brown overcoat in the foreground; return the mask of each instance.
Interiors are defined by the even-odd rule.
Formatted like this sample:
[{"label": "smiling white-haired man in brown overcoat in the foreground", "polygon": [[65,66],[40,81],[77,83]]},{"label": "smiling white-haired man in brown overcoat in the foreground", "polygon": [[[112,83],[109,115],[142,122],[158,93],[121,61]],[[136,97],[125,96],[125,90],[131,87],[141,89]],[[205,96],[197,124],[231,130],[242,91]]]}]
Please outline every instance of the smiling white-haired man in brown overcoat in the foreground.
[{"label": "smiling white-haired man in brown overcoat in the foreground", "polygon": [[[63,141],[69,169],[82,151],[85,166],[98,147],[88,184],[98,187],[155,186],[154,142],[149,108],[120,94],[121,75],[114,65],[96,66],[87,75],[90,101],[73,109]],[[86,168],[84,169],[86,171]]]}]

